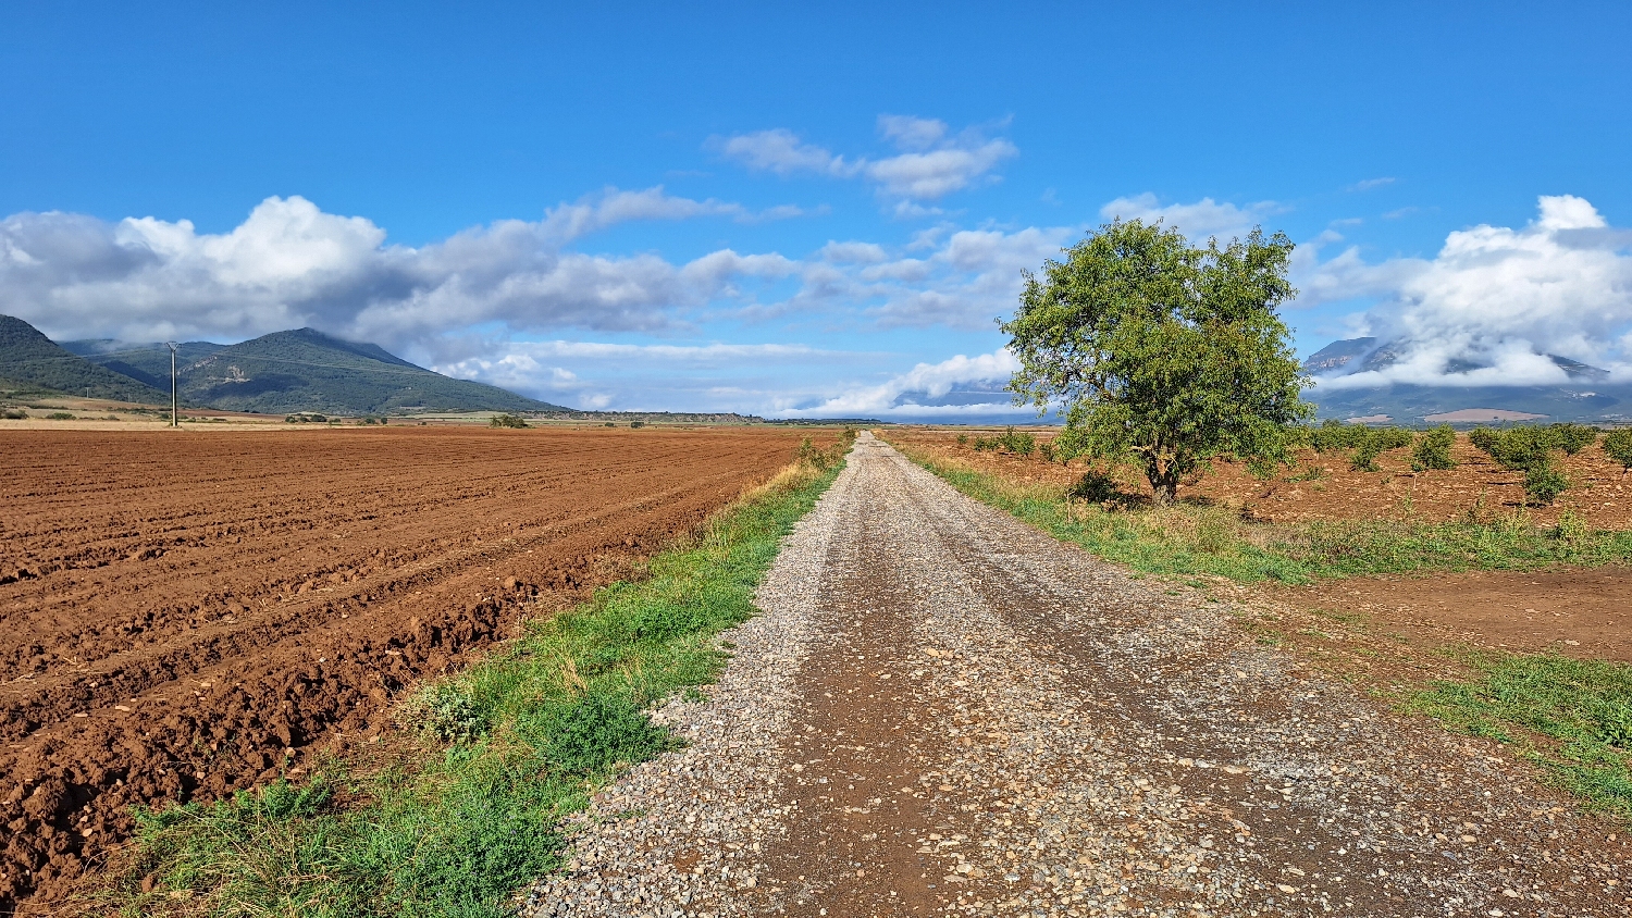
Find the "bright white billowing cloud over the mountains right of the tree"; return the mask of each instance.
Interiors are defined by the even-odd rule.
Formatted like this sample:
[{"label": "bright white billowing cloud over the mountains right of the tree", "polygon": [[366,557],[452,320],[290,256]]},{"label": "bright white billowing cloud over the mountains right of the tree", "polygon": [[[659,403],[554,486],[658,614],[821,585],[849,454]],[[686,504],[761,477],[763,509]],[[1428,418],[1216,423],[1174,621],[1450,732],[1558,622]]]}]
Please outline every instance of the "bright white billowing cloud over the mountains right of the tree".
[{"label": "bright white billowing cloud over the mountains right of the tree", "polygon": [[1521,228],[1452,232],[1433,259],[1366,263],[1346,248],[1299,279],[1299,300],[1376,300],[1364,326],[1397,359],[1322,385],[1567,383],[1546,354],[1632,375],[1629,249],[1632,233],[1568,194],[1542,196]]}]

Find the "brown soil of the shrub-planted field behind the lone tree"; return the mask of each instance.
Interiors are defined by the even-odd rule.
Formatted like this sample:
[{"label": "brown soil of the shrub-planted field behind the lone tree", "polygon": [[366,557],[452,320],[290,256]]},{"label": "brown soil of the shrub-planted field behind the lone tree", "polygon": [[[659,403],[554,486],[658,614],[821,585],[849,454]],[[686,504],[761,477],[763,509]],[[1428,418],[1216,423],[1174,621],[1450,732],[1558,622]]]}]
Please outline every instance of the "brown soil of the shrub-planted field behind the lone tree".
[{"label": "brown soil of the shrub-planted field behind the lone tree", "polygon": [[[989,430],[969,430],[987,435]],[[1036,430],[1038,442],[1053,437],[1053,430]],[[960,447],[958,432],[945,429],[891,429],[889,442],[909,447],[948,450],[958,458],[986,471],[1027,481],[1071,484],[1082,478],[1084,465],[1058,465],[1043,461],[1033,453],[1028,458],[974,452]],[[1216,501],[1242,505],[1255,519],[1266,522],[1340,520],[1364,517],[1413,515],[1423,520],[1452,520],[1474,514],[1506,514],[1524,505],[1524,473],[1508,471],[1474,448],[1466,435],[1459,435],[1452,455],[1457,466],[1451,470],[1412,471],[1410,450],[1392,450],[1377,458],[1381,471],[1353,471],[1348,457],[1338,453],[1317,455],[1306,450],[1297,463],[1271,481],[1253,478],[1245,466],[1231,461],[1213,463],[1213,470],[1191,486],[1180,488],[1185,499]],[[1632,474],[1621,463],[1604,455],[1599,447],[1588,447],[1578,455],[1563,457],[1560,463],[1570,476],[1570,489],[1550,507],[1529,507],[1541,525],[1552,525],[1559,514],[1573,509],[1591,525],[1609,530],[1632,528]],[[1288,481],[1312,476],[1309,481]],[[1128,494],[1149,497],[1151,486],[1129,470],[1116,470],[1115,478]]]}]

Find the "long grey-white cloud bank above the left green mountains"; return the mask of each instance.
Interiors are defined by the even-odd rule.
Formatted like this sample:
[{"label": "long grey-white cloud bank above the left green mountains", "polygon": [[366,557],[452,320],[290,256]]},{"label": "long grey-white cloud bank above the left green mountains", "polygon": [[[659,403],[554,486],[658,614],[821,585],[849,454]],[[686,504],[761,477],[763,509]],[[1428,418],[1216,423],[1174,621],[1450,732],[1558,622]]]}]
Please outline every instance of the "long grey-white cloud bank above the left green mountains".
[{"label": "long grey-white cloud bank above the left green mountains", "polygon": [[614,223],[708,215],[765,218],[661,188],[607,189],[537,222],[499,220],[410,248],[299,196],[263,201],[227,233],[199,233],[189,220],[16,214],[0,220],[0,302],[47,333],[124,341],[242,339],[304,324],[388,346],[478,323],[663,331],[684,326],[677,310],[795,266],[730,249],[671,264],[565,246]]}]

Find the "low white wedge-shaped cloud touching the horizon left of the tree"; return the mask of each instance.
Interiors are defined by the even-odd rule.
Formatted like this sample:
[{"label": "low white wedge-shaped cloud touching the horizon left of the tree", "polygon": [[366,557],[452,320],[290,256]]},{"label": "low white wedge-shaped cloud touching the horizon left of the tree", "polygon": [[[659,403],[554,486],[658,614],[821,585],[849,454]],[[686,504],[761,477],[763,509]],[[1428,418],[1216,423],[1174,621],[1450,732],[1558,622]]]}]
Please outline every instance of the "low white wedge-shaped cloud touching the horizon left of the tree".
[{"label": "low white wedge-shaped cloud touching the horizon left of the tree", "polygon": [[[1020,369],[1020,360],[1009,351],[994,351],[919,364],[889,380],[855,386],[818,404],[783,411],[788,417],[947,417],[969,414],[1013,413],[1015,408],[1002,386]],[[955,398],[958,395],[963,398]],[[973,398],[971,398],[973,396]]]}]

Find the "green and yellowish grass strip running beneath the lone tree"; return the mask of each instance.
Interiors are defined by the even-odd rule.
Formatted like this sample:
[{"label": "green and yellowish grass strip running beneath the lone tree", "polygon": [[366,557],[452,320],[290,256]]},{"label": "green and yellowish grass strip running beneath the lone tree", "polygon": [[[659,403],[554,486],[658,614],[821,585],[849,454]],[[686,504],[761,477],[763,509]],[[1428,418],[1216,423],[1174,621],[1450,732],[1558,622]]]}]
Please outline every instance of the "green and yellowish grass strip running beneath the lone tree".
[{"label": "green and yellowish grass strip running beneath the lone tree", "polygon": [[958,491],[1134,571],[1304,584],[1410,571],[1529,571],[1632,561],[1632,533],[1591,530],[1567,515],[1541,528],[1516,512],[1495,520],[1412,519],[1250,523],[1227,507],[1173,504],[1105,510],[1066,501],[1061,486],[1010,481],[906,450]]}]

